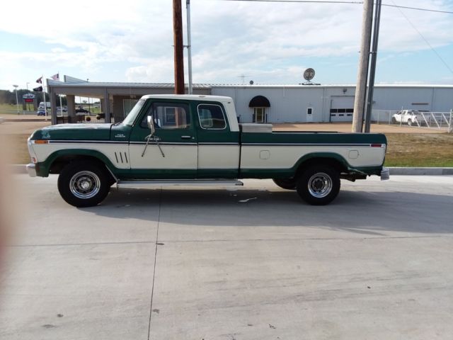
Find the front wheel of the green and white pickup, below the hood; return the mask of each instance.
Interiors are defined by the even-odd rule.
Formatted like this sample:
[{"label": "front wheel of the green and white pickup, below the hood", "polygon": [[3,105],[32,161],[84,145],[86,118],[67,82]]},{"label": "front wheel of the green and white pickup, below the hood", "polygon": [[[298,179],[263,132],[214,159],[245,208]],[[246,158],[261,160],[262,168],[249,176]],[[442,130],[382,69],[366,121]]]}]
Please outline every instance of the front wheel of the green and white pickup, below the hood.
[{"label": "front wheel of the green and white pickup, below the hood", "polygon": [[102,164],[70,163],[59,174],[58,191],[74,207],[93,207],[108,195],[110,176]]}]

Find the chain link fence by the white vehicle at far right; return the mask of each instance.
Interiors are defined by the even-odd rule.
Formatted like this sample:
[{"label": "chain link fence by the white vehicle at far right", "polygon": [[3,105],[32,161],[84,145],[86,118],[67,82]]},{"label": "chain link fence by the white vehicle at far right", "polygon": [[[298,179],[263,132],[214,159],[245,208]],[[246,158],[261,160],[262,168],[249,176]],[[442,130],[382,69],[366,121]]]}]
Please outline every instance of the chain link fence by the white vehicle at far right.
[{"label": "chain link fence by the white vehicle at far right", "polygon": [[452,132],[453,112],[428,112],[415,110],[373,110],[372,123],[413,126]]}]

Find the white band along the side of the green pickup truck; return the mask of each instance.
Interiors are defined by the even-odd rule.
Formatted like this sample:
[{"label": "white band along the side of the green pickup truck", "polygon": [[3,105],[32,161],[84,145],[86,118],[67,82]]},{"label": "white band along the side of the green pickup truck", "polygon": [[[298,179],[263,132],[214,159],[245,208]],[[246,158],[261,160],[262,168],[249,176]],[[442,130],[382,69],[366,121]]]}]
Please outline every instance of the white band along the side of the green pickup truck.
[{"label": "white band along the side of the green pickup truck", "polygon": [[385,147],[322,145],[161,145],[150,144],[142,157],[144,144],[50,143],[28,145],[30,155],[44,162],[61,149],[88,149],[101,152],[118,169],[290,169],[300,158],[313,152],[335,153],[351,166],[380,166]]}]

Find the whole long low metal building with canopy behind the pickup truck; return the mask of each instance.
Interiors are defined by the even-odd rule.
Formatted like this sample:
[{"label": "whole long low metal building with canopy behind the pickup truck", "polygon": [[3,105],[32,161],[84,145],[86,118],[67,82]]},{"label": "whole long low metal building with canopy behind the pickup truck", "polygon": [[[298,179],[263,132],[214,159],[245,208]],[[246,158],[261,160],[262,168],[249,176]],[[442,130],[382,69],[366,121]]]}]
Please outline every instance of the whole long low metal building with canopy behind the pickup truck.
[{"label": "whole long low metal building with canopy behind the pickup truck", "polygon": [[[74,96],[101,99],[106,122],[122,120],[144,94],[173,94],[173,84],[88,82],[74,77],[47,79],[52,100],[52,123],[57,118],[56,96],[68,99],[69,122],[75,121]],[[353,85],[218,85],[194,84],[194,94],[230,96],[241,123],[316,123],[352,121]],[[453,85],[376,85],[374,110],[413,109],[449,112]]]}]

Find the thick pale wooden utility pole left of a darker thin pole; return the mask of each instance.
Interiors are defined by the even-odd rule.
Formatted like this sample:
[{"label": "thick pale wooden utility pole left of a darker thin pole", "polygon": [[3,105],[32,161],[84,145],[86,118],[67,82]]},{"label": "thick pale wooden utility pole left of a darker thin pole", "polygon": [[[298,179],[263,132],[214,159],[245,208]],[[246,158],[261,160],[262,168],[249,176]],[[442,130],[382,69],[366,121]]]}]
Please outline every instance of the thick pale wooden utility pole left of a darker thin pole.
[{"label": "thick pale wooden utility pole left of a darker thin pole", "polygon": [[359,69],[357,86],[355,86],[354,114],[352,117],[352,132],[362,132],[365,101],[367,98],[367,77],[369,65],[369,47],[373,21],[373,0],[363,1],[362,40],[360,45]]}]

